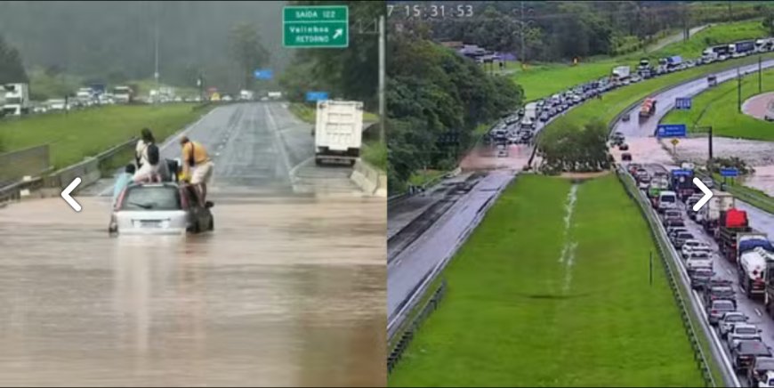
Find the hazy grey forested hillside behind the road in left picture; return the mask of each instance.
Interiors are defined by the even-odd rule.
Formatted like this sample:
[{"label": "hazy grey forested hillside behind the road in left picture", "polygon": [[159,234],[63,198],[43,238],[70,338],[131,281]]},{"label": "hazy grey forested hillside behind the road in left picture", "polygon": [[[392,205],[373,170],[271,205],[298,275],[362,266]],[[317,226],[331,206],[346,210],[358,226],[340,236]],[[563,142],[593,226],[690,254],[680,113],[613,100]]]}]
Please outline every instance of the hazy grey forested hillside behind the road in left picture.
[{"label": "hazy grey forested hillside behind the road in left picture", "polygon": [[[198,1],[4,1],[0,35],[16,47],[29,69],[84,82],[149,79],[155,67],[170,85],[236,89],[244,84],[230,36],[249,24],[281,68],[291,53],[282,49],[281,12],[285,2]],[[244,30],[244,28],[243,28]]]}]

